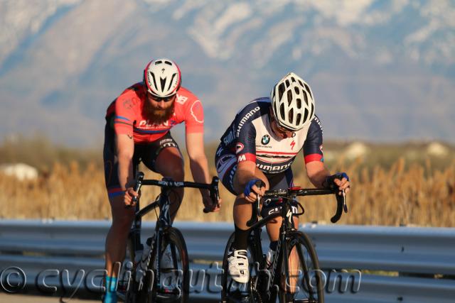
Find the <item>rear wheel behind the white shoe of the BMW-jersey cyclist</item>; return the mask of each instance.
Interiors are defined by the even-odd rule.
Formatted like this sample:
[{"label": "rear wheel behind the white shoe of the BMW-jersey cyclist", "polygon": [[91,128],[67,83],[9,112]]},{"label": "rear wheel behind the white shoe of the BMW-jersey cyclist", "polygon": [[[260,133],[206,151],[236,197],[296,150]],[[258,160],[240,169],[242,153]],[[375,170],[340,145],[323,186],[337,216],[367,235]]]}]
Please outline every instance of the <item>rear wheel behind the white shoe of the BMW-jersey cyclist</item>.
[{"label": "rear wheel behind the white shoe of the BMW-jersey cyclist", "polygon": [[252,290],[252,282],[257,279],[257,264],[262,260],[257,260],[257,251],[254,246],[248,246],[248,262],[250,265],[250,280],[248,283],[240,285],[233,281],[229,275],[228,269],[228,253],[231,250],[232,243],[234,243],[235,233],[232,233],[226,243],[225,253],[223,255],[223,275],[221,277],[221,302],[223,303],[262,303],[262,298],[256,290]]}]

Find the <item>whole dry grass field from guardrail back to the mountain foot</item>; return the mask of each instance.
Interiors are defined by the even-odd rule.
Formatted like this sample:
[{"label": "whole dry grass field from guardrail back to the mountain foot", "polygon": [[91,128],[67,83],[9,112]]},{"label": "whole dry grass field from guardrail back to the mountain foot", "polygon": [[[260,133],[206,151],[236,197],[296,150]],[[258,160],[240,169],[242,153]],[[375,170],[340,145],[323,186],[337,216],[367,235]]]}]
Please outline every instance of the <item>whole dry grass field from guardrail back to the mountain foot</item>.
[{"label": "whole dry grass field from guardrail back to the mountain foot", "polygon": [[[41,166],[36,165],[41,172],[37,180],[18,181],[0,173],[0,218],[109,219],[102,163],[97,158],[100,155],[92,156],[94,153],[90,153],[87,156],[71,150],[56,153],[46,146],[43,149],[52,153],[55,156],[53,160],[57,162],[51,164],[50,160],[35,155],[36,161],[41,163]],[[0,147],[1,162],[8,162],[8,157],[13,154],[17,162],[26,162],[14,153],[14,147],[7,148],[5,145]],[[8,156],[5,150],[9,150],[11,155]],[[455,226],[454,149],[446,145],[443,152],[438,152],[437,148],[434,150],[424,143],[400,146],[327,143],[326,165],[332,172],[348,172],[352,182],[348,195],[349,213],[342,217],[340,223]],[[210,164],[213,152],[213,146],[208,148]],[[34,164],[33,161],[28,162]],[[188,161],[186,165],[186,180],[191,180]],[[296,175],[294,183],[311,187],[301,158],[296,160],[293,169]],[[215,174],[213,167],[210,170]],[[159,176],[147,172],[146,177]],[[232,221],[234,197],[223,186],[220,190],[222,210],[217,214],[203,214],[198,190],[186,189],[177,220]],[[145,187],[141,203],[151,201],[157,194],[159,189]],[[308,197],[301,203],[306,211],[302,222],[329,222],[336,209],[334,197]],[[149,214],[146,219],[154,220],[155,214]]]}]

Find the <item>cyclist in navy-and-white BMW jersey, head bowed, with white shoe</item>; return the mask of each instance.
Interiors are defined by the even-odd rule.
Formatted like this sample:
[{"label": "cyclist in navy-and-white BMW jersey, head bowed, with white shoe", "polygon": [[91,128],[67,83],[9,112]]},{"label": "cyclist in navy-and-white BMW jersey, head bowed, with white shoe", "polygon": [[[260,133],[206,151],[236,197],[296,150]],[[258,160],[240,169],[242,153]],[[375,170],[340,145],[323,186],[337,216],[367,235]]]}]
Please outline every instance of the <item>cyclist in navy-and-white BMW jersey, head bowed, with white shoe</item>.
[{"label": "cyclist in navy-and-white BMW jersey, head bowed, with white shoe", "polygon": [[[270,97],[251,101],[235,116],[215,154],[218,177],[237,196],[234,204],[235,241],[228,254],[229,273],[237,282],[249,278],[247,220],[251,203],[267,189],[293,186],[291,164],[300,150],[306,174],[316,187],[349,192],[346,173],[331,175],[323,164],[322,126],[315,114],[314,96],[301,77],[289,73],[272,89]],[[262,180],[265,186],[255,183]],[[261,214],[279,209],[279,201],[265,201]],[[294,224],[298,219],[294,216]],[[279,237],[281,218],[267,224],[271,240],[267,260],[272,260]]]}]

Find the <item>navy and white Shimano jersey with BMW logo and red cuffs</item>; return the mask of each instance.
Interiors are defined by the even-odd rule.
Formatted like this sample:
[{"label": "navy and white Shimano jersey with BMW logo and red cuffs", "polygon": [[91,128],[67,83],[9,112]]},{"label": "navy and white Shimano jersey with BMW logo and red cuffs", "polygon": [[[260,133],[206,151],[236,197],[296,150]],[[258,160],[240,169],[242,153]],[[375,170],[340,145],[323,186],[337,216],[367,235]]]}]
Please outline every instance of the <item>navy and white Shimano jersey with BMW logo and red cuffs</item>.
[{"label": "navy and white Shimano jersey with BMW logo and red cuffs", "polygon": [[284,172],[294,162],[303,148],[305,162],[323,161],[322,127],[317,116],[308,126],[301,128],[291,138],[281,138],[270,126],[271,101],[259,98],[251,101],[235,116],[223,136],[215,156],[217,170],[228,163],[224,156],[235,154],[237,163],[256,162],[265,174]]}]

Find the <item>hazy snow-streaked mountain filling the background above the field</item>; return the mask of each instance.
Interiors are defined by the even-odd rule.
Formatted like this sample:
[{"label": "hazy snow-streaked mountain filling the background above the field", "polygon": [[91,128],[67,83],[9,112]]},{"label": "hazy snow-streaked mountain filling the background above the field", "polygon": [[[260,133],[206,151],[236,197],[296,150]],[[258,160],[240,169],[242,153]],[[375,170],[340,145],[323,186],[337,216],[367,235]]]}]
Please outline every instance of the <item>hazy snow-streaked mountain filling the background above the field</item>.
[{"label": "hazy snow-streaked mountain filling the background above the field", "polygon": [[105,108],[170,57],[218,138],[289,71],[328,138],[451,138],[454,1],[0,1],[0,136],[102,139]]}]

